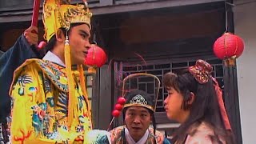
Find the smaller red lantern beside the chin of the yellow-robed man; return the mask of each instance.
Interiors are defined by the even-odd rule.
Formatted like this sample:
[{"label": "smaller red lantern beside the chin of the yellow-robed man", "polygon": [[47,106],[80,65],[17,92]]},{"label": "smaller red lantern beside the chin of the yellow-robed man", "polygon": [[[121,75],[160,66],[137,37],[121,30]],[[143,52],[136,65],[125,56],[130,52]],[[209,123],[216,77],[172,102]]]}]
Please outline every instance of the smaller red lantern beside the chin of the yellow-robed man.
[{"label": "smaller red lantern beside the chin of the yellow-robed man", "polygon": [[97,45],[91,45],[85,60],[86,65],[90,68],[101,67],[106,63],[106,53]]}]

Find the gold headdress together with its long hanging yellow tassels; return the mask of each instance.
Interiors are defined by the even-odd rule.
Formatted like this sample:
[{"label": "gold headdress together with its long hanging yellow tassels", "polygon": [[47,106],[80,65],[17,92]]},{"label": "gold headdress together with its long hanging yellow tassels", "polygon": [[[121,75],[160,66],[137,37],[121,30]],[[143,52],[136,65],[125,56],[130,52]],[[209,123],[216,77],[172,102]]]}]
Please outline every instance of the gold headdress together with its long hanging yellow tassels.
[{"label": "gold headdress together with its long hanging yellow tassels", "polygon": [[[45,38],[49,42],[50,38],[57,33],[59,28],[70,30],[70,26],[73,23],[84,23],[90,28],[90,18],[92,13],[88,9],[88,5],[85,2],[84,5],[78,4],[76,6],[70,5],[69,0],[45,0],[43,3],[43,17],[42,22],[45,26]],[[68,90],[69,90],[69,105],[68,105],[68,123],[69,126],[73,124],[74,118],[77,117],[76,111],[78,106],[77,98],[74,93],[74,78],[71,70],[71,59],[70,59],[70,45],[69,38],[66,35],[65,41],[65,65],[66,75],[68,79]],[[80,73],[82,93],[88,104],[88,97],[86,94],[85,78],[83,74],[82,65],[78,66]],[[89,106],[89,104],[88,104]],[[88,107],[88,116],[91,117],[90,107]]]}]

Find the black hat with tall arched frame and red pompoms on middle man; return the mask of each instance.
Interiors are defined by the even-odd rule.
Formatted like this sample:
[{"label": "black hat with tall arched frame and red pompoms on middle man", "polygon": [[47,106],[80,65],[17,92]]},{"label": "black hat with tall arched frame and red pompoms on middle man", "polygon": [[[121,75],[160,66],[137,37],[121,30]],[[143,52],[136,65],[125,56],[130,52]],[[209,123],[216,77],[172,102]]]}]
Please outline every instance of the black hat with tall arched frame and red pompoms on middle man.
[{"label": "black hat with tall arched frame and red pompoms on middle man", "polygon": [[[114,106],[115,110],[112,112],[114,117],[110,122],[108,130],[110,130],[114,118],[118,118],[121,110],[123,118],[125,118],[124,109],[130,106],[141,106],[150,110],[152,112],[152,122],[155,130],[156,123],[154,112],[157,108],[159,90],[160,80],[154,74],[135,73],[126,76],[126,78],[122,80],[122,97],[118,98],[118,104]],[[118,105],[122,106],[119,108]]]}]

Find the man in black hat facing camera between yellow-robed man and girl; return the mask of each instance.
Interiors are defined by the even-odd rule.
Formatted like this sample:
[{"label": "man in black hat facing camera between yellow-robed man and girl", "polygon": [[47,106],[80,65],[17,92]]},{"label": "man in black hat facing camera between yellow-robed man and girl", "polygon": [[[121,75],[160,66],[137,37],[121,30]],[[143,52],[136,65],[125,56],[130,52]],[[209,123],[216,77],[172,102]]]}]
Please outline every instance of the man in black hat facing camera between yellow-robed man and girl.
[{"label": "man in black hat facing camera between yellow-robed man and girl", "polygon": [[[112,143],[170,143],[161,132],[155,130],[154,102],[145,91],[133,90],[126,94],[122,115],[125,126],[118,126],[110,131]],[[151,122],[154,128],[150,127]]]}]

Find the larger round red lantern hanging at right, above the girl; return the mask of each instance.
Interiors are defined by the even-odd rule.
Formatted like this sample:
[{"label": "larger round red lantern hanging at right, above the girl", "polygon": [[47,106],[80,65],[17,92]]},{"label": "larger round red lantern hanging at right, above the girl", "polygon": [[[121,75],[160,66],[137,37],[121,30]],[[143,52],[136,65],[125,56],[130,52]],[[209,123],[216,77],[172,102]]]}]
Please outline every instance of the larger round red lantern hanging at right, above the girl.
[{"label": "larger round red lantern hanging at right, above the girl", "polygon": [[234,60],[242,54],[243,50],[242,38],[235,34],[224,33],[214,42],[214,54],[223,60]]}]

